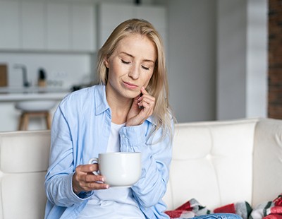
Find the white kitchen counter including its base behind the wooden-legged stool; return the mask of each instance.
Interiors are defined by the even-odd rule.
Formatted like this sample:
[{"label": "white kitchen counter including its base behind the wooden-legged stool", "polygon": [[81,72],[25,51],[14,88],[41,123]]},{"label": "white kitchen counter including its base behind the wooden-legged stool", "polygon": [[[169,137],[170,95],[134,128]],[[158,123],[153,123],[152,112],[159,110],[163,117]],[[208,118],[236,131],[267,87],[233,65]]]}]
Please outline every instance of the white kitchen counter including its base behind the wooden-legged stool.
[{"label": "white kitchen counter including its base behind the wooden-legged stool", "polygon": [[[54,107],[50,109],[52,117],[57,106],[68,93],[71,93],[70,89],[55,86],[46,88],[0,87],[0,131],[18,130],[21,112],[16,105],[38,109],[38,106],[48,105],[48,102],[51,105],[51,102],[54,102]],[[46,129],[46,126],[42,119],[31,119],[29,129]]]}]

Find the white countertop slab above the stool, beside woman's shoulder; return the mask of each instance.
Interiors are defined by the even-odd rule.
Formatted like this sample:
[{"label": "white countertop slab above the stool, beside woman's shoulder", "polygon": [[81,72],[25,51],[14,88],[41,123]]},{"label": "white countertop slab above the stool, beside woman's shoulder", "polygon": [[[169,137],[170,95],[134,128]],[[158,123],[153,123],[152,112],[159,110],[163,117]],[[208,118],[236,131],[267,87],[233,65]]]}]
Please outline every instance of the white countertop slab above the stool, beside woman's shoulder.
[{"label": "white countertop slab above the stool, beside woman's shoulder", "polygon": [[64,88],[3,87],[0,88],[0,102],[62,100],[70,92],[70,90]]}]

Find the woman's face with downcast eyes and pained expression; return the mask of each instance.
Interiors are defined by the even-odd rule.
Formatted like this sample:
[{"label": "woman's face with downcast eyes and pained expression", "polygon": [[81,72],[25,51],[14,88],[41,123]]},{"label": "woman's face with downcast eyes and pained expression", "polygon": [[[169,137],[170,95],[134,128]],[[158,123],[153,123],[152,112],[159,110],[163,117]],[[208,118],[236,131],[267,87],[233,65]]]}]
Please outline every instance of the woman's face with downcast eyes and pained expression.
[{"label": "woman's face with downcast eyes and pained expression", "polygon": [[123,38],[105,60],[109,69],[106,90],[118,97],[134,98],[140,95],[142,86],[147,87],[154,72],[157,49],[154,43],[140,34]]}]

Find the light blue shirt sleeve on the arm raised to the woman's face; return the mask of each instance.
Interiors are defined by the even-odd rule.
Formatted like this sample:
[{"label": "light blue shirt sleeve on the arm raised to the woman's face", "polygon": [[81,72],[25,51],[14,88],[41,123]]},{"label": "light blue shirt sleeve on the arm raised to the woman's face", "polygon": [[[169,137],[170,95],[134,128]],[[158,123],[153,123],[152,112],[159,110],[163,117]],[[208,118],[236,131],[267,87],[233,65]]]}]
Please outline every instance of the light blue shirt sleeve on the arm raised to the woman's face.
[{"label": "light blue shirt sleeve on the arm raised to the woman's face", "polygon": [[[152,128],[154,125],[149,123],[149,126]],[[168,135],[161,138],[162,131],[158,129],[149,138],[144,124],[125,126],[120,131],[121,151],[142,153],[141,177],[132,189],[135,199],[143,208],[155,206],[166,193],[172,141]]]}]

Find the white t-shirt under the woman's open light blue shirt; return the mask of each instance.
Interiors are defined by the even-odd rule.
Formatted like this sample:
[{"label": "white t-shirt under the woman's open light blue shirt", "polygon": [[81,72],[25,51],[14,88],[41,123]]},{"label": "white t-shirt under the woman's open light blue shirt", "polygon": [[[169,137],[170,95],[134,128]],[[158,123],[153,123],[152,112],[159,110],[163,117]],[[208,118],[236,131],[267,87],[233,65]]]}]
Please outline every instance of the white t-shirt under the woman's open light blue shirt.
[{"label": "white t-shirt under the woman's open light blue shirt", "polygon": [[[111,123],[111,134],[106,152],[120,151],[119,130],[125,124]],[[130,218],[145,219],[145,215],[133,198],[130,188],[110,187],[94,191],[94,195],[80,212],[79,219]]]}]

